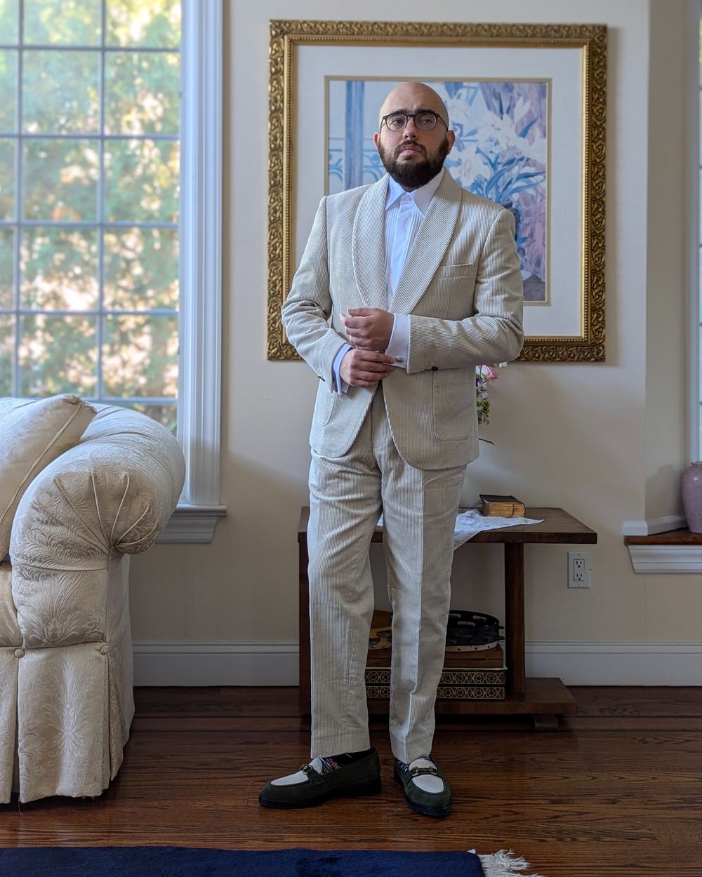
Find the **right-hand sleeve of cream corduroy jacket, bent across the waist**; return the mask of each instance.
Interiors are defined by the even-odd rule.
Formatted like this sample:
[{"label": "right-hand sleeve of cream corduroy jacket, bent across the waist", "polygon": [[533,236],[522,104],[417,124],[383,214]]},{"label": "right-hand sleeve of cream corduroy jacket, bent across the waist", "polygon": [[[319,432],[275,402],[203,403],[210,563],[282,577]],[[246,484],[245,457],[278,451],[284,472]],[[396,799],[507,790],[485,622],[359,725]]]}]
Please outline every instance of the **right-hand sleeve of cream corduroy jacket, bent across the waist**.
[{"label": "right-hand sleeve of cream corduroy jacket, bent across the waist", "polygon": [[516,359],[524,342],[523,299],[514,217],[500,210],[476,267],[474,313],[462,320],[410,315],[407,371]]}]

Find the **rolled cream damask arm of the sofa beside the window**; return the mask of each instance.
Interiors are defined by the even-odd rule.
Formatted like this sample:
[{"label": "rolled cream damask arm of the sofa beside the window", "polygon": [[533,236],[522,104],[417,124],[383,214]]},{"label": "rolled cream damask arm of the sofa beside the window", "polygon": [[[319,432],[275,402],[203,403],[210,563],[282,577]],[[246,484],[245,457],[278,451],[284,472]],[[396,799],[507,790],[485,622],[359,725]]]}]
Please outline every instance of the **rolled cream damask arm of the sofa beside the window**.
[{"label": "rolled cream damask arm of the sofa beside the window", "polygon": [[79,444],[32,481],[12,524],[12,596],[26,645],[103,639],[108,567],[154,544],[183,488],[183,452],[166,429],[136,411],[96,407]]}]

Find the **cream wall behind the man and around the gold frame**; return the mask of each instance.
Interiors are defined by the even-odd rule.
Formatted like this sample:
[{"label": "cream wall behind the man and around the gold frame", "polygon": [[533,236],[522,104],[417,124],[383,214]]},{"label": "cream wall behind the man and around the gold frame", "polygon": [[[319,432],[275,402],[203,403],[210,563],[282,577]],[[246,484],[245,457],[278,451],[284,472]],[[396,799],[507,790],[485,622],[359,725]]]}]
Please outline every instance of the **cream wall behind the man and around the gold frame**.
[{"label": "cream wall behind the man and around the gold frame", "polygon": [[[138,645],[141,682],[177,683],[178,667],[197,660],[181,654],[178,663],[178,652],[188,651],[183,644],[201,652],[195,644],[203,643],[251,645],[229,645],[233,657],[218,664],[220,670],[238,667],[239,675],[202,681],[294,681],[297,516],[306,502],[317,379],[302,362],[265,358],[268,22],[352,15],[371,20],[378,12],[371,0],[352,6],[320,0],[225,4],[222,502],[230,515],[218,523],[211,545],[158,545],[133,559],[134,638],[170,644],[163,651],[175,654],[166,662],[171,675],[157,678],[149,676],[154,665],[140,657]],[[568,546],[526,548],[526,638],[539,644],[532,651],[553,652],[551,658],[531,659],[541,673],[551,672],[554,662],[568,666],[563,644],[571,642],[635,644],[644,655],[658,660],[664,652],[669,660],[671,652],[681,651],[670,644],[702,640],[700,577],[634,574],[621,537],[623,520],[679,511],[677,483],[685,463],[685,9],[684,0],[383,5],[384,20],[609,26],[607,361],[510,365],[491,393],[491,424],[484,435],[495,444],[484,445],[469,467],[463,494],[466,503],[483,491],[562,506],[598,531],[598,545],[588,549],[589,590],[566,587]],[[381,558],[374,560],[380,569]],[[500,576],[498,547],[464,549],[455,564],[455,605],[499,611]],[[549,652],[548,644],[560,645]],[[586,645],[572,660],[578,681],[618,681],[614,660],[592,661],[587,670],[582,652],[588,649],[598,652],[597,645]],[[237,658],[241,651],[243,662]],[[666,678],[690,682],[698,674],[702,682],[702,652],[682,651],[684,661],[667,665]],[[280,652],[287,660],[280,660]],[[563,674],[569,681],[567,670]]]}]

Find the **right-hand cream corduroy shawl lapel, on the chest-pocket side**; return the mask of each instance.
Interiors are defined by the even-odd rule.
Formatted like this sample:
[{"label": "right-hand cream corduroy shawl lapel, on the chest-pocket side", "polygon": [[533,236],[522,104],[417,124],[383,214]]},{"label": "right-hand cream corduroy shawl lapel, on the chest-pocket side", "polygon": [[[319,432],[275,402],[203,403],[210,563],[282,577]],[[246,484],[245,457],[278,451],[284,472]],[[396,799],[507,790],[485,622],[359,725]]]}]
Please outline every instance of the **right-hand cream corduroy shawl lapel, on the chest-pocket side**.
[{"label": "right-hand cream corduroy shawl lapel, on the chest-pocket side", "polygon": [[392,300],[392,310],[396,313],[411,313],[426,292],[454,234],[461,210],[461,198],[461,187],[448,170],[445,170],[441,184],[429,204],[429,210],[426,211],[412,241],[410,252],[407,253],[398,289],[395,290]]}]

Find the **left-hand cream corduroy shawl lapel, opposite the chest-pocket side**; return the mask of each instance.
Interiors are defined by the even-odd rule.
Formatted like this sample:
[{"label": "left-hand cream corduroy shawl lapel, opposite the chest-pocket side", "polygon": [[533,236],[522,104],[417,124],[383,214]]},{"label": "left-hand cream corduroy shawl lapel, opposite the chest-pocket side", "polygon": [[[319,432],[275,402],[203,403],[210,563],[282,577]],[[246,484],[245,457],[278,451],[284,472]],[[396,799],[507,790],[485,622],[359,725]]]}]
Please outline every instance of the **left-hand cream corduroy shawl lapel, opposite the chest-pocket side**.
[{"label": "left-hand cream corduroy shawl lapel, opposite the chest-pocket side", "polygon": [[363,193],[354,220],[352,252],[363,307],[387,309],[385,294],[385,197],[388,175]]}]

